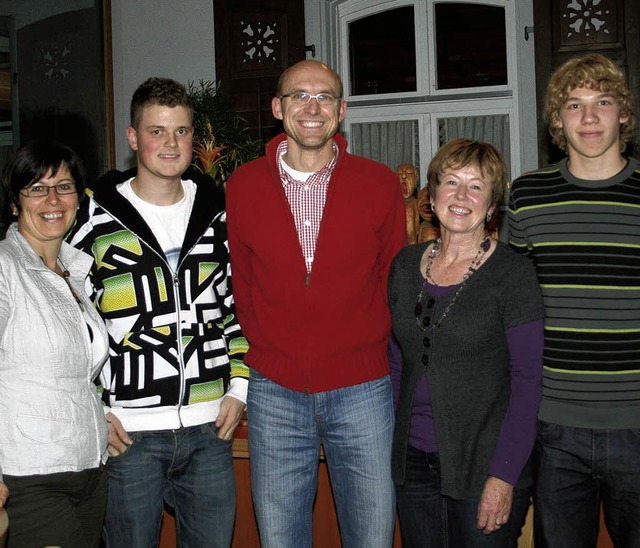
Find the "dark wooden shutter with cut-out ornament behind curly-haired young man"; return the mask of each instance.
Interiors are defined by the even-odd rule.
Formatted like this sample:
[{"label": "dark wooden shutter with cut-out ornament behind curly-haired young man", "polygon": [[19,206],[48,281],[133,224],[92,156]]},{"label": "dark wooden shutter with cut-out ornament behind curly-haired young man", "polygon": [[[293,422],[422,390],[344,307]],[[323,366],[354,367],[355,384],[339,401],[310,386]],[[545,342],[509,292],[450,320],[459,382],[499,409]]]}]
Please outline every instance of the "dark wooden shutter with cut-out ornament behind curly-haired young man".
[{"label": "dark wooden shutter with cut-out ornament behind curly-haired young man", "polygon": [[[564,153],[551,143],[542,119],[544,95],[551,72],[570,57],[598,52],[613,59],[627,74],[640,115],[640,4],[638,0],[533,0],[540,165]],[[636,140],[638,137],[636,136]],[[625,154],[638,156],[627,148]]]}]

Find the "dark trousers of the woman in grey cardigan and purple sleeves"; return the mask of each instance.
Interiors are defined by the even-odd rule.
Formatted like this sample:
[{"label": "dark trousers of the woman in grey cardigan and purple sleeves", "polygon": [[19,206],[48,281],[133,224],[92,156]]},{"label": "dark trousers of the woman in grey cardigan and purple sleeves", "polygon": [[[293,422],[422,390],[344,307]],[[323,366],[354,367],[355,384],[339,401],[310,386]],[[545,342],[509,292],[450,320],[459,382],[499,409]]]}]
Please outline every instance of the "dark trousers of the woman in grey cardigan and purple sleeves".
[{"label": "dark trousers of the woman in grey cardigan and purple sleeves", "polygon": [[485,535],[476,528],[480,497],[454,500],[442,496],[438,454],[409,446],[405,482],[396,485],[396,497],[404,548],[515,548],[531,490],[514,489],[509,521]]}]

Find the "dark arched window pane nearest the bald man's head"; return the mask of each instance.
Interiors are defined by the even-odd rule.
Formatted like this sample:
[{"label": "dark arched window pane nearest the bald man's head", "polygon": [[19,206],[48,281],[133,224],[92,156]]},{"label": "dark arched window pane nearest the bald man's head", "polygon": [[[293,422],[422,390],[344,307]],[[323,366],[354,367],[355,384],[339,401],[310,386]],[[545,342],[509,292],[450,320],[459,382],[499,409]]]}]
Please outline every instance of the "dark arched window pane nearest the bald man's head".
[{"label": "dark arched window pane nearest the bald man's head", "polygon": [[351,95],[416,91],[413,6],[349,23]]}]

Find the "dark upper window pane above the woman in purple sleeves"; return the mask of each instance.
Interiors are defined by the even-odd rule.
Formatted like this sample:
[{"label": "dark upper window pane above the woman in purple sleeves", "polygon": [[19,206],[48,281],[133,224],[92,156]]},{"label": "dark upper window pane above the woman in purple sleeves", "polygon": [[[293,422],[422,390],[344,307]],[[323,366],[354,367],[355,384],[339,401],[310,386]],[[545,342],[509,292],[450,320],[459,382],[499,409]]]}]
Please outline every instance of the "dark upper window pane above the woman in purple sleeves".
[{"label": "dark upper window pane above the woman in purple sleeves", "polygon": [[507,84],[504,8],[435,4],[438,89]]}]

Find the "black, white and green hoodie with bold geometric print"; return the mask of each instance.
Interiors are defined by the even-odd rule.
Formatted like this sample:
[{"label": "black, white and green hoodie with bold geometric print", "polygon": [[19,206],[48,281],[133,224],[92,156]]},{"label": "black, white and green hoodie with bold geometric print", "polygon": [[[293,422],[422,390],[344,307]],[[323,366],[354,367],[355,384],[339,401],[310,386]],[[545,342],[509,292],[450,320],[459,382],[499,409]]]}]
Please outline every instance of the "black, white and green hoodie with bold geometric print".
[{"label": "black, white and green hoodie with bold geometric print", "polygon": [[174,273],[150,228],[116,189],[135,170],[95,184],[68,239],[94,258],[87,290],[109,331],[102,399],[127,431],[216,419],[225,394],[246,400],[247,342],[238,324],[224,193],[200,174]]}]

